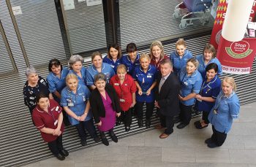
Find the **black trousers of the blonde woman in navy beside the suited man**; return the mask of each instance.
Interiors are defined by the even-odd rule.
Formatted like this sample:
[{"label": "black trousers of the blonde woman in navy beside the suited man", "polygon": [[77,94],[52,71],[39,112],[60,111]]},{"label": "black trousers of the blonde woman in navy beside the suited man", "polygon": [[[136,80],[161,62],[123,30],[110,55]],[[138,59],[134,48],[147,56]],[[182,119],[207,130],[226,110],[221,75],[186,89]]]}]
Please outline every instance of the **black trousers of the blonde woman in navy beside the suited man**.
[{"label": "black trousers of the blonde woman in navy beside the suited man", "polygon": [[[138,119],[143,119],[143,104],[144,102],[136,102],[135,110],[137,112]],[[154,110],[154,101],[146,103],[146,120],[150,120]]]}]

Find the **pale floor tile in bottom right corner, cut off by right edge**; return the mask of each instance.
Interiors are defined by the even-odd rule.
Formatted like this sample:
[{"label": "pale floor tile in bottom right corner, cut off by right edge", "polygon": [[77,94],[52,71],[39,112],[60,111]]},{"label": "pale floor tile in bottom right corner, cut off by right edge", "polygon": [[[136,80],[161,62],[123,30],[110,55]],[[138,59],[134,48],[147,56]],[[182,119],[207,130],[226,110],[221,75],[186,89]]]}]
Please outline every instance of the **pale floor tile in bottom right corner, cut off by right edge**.
[{"label": "pale floor tile in bottom right corner, cut off by right edge", "polygon": [[230,149],[231,163],[256,164],[256,149]]}]

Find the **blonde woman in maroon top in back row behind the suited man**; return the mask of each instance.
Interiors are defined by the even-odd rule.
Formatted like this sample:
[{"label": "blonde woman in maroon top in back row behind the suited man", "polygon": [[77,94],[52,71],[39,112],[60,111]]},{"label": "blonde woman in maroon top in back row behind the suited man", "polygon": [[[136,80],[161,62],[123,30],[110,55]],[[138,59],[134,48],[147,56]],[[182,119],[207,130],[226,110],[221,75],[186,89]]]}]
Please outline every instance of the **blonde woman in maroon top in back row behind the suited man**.
[{"label": "blonde woman in maroon top in back row behind the suited man", "polygon": [[150,46],[150,64],[157,67],[157,71],[160,71],[160,62],[168,58],[167,55],[165,55],[164,47],[162,47],[162,42],[154,41],[151,43]]}]

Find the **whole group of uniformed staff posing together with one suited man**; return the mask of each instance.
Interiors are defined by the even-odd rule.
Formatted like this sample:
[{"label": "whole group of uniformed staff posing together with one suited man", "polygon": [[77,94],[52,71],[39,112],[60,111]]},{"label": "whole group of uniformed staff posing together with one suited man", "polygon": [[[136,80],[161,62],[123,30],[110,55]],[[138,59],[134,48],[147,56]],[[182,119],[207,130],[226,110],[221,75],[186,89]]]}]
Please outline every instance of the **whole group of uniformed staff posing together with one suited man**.
[{"label": "whole group of uniformed staff posing together with one suited man", "polygon": [[105,58],[94,52],[87,69],[80,55],[71,56],[69,69],[53,58],[47,79],[40,77],[33,66],[26,69],[24,102],[56,158],[64,160],[69,155],[62,145],[64,123],[77,128],[82,146],[87,144],[87,132],[95,142],[102,141],[108,146],[106,132],[118,142],[113,131],[115,125],[123,122],[125,131],[130,131],[133,109],[138,126],[150,128],[155,106],[161,123],[156,128],[165,128],[160,139],[173,133],[177,115],[177,128],[186,127],[195,105],[203,112],[195,127],[212,124],[213,135],[206,140],[208,147],[223,144],[233,118],[238,117],[239,101],[234,79],[219,79],[222,67],[211,44],[206,44],[203,55],[196,58],[187,50],[184,39],[178,39],[170,56],[165,55],[159,41],[151,43],[149,54],[139,55],[134,43],[127,44],[126,51],[126,55],[121,55],[118,44],[112,44]]}]

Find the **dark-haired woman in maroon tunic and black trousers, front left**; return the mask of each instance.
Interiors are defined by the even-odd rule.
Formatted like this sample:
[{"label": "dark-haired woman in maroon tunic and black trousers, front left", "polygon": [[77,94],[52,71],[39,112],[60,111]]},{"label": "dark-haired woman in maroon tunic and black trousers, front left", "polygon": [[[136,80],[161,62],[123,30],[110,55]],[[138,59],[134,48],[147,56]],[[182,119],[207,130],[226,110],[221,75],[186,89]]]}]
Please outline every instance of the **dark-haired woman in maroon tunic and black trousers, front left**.
[{"label": "dark-haired woman in maroon tunic and black trousers, front left", "polygon": [[41,132],[42,139],[48,142],[48,147],[59,160],[64,160],[69,155],[62,145],[64,131],[62,108],[53,99],[43,93],[36,98],[37,106],[32,113],[32,119],[37,129]]}]

